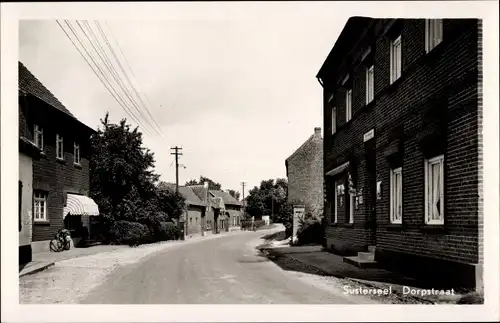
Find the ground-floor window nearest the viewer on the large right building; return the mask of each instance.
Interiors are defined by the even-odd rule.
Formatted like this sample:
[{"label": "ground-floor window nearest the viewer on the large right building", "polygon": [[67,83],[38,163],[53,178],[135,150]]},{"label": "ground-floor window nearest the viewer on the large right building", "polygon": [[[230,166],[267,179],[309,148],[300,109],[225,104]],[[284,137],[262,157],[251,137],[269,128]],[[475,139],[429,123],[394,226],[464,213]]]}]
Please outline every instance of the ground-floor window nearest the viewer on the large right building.
[{"label": "ground-floor window nearest the viewer on the large right building", "polygon": [[444,156],[425,161],[425,223],[444,224]]}]

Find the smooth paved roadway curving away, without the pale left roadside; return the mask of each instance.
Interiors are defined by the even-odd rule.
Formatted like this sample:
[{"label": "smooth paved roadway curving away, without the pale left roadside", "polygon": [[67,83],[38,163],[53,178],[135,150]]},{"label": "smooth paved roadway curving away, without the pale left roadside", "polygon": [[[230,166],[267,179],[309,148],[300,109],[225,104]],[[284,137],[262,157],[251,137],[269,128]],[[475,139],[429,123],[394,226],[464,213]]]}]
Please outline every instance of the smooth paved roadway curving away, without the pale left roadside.
[{"label": "smooth paved roadway curving away, without the pale left roadside", "polygon": [[260,257],[255,246],[264,234],[240,232],[153,254],[114,271],[82,303],[350,303]]}]

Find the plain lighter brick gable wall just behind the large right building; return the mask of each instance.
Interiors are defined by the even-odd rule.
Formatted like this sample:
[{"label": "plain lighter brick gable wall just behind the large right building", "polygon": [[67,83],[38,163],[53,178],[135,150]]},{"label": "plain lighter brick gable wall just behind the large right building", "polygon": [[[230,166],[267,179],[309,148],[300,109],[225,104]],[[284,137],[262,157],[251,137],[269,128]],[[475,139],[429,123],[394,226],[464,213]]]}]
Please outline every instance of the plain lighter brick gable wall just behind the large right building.
[{"label": "plain lighter brick gable wall just behind the large right building", "polygon": [[287,200],[305,205],[306,213],[323,216],[323,138],[321,128],[285,161],[288,177]]}]

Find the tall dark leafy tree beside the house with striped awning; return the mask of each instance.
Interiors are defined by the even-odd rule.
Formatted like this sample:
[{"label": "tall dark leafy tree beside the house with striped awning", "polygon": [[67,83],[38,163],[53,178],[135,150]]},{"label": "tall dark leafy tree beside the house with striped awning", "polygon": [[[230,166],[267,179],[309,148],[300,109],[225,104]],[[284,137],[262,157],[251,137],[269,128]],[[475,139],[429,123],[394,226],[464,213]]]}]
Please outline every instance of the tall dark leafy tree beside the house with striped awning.
[{"label": "tall dark leafy tree beside the house with striped awning", "polygon": [[105,224],[176,217],[183,198],[158,189],[154,154],[143,146],[138,128],[131,129],[126,119],[110,123],[109,113],[101,126],[91,137],[90,196]]}]

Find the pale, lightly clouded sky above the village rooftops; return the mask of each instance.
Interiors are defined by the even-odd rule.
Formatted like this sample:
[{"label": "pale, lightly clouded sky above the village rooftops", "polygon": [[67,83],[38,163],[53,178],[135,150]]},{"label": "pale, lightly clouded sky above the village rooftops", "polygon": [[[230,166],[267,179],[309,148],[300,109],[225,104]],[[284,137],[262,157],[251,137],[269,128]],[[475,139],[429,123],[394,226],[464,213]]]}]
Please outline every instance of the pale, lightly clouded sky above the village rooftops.
[{"label": "pale, lightly clouded sky above the village rooftops", "polygon": [[[144,138],[161,180],[175,182],[173,146],[183,148],[180,184],[203,175],[240,192],[244,181],[247,193],[286,177],[285,159],[322,127],[315,76],[348,19],[333,12],[290,3],[233,16],[99,20],[161,127],[162,137]],[[106,111],[136,125],[56,20],[20,20],[19,59],[88,126],[97,129]]]}]

